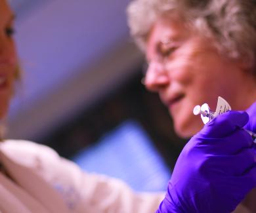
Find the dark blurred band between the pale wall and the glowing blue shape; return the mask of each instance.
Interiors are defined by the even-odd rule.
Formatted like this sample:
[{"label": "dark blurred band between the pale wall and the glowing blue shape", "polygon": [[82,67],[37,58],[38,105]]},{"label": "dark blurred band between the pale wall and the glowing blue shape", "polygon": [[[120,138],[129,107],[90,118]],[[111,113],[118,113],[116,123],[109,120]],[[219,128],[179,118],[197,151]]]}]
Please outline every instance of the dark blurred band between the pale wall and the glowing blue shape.
[{"label": "dark blurred band between the pale wall and the glowing blue shape", "polygon": [[169,113],[161,104],[158,94],[148,92],[140,83],[142,72],[137,73],[125,85],[39,142],[70,158],[123,121],[134,119],[146,130],[167,166],[173,168],[186,140],[176,136]]}]

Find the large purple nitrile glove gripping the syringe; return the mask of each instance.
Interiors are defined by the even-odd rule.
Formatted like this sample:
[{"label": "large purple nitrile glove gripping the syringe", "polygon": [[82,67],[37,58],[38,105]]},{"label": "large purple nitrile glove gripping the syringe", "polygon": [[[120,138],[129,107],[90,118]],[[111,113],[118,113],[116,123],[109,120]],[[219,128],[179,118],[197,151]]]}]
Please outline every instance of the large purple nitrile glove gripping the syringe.
[{"label": "large purple nitrile glove gripping the syringe", "polygon": [[232,212],[256,185],[245,112],[228,111],[198,132],[177,160],[165,199],[156,211]]}]

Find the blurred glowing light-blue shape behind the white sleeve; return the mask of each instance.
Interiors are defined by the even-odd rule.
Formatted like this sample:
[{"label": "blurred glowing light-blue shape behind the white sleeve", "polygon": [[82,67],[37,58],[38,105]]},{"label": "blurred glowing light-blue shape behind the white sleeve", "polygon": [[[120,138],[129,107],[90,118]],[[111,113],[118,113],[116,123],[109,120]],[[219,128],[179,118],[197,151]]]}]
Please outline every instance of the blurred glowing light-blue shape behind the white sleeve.
[{"label": "blurred glowing light-blue shape behind the white sleeve", "polygon": [[136,191],[165,191],[171,171],[136,121],[125,121],[72,159],[83,170],[124,180]]}]

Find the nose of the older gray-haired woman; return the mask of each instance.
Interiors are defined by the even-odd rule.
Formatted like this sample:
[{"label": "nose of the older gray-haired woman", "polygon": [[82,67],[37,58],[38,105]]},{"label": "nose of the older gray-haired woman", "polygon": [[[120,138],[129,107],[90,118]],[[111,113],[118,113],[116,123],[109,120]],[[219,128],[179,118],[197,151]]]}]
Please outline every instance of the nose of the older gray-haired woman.
[{"label": "nose of the older gray-haired woman", "polygon": [[152,92],[158,92],[161,88],[167,87],[169,76],[163,64],[150,63],[144,78],[144,85]]}]

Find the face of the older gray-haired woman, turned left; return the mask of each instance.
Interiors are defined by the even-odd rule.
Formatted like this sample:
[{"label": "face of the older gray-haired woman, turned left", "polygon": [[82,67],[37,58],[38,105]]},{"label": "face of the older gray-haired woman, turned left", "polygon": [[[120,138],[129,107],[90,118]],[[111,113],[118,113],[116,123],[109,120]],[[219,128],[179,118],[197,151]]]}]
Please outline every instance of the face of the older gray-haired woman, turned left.
[{"label": "face of the older gray-haired woman, turned left", "polygon": [[244,85],[244,71],[219,54],[211,39],[200,36],[184,23],[158,20],[146,46],[148,70],[145,85],[158,92],[173,117],[177,134],[190,137],[203,124],[192,113],[194,106],[209,104],[215,110],[217,97],[239,108],[236,98]]}]

